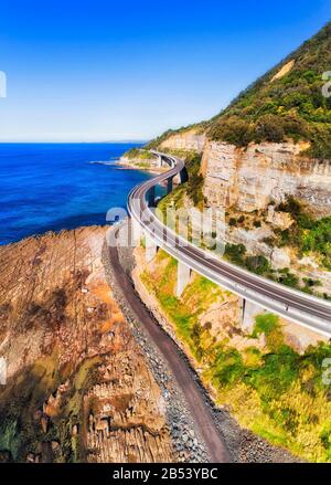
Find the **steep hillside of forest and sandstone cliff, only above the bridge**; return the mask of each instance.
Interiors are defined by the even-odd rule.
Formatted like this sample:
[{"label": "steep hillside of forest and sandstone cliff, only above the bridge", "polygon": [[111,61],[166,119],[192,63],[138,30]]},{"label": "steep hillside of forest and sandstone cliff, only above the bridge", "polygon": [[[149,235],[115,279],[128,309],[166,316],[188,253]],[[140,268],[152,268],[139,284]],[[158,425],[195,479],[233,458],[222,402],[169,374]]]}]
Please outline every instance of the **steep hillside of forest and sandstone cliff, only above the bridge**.
[{"label": "steep hillside of forest and sandstone cliff, only above the bridge", "polygon": [[[325,298],[331,97],[322,87],[330,66],[331,23],[210,122],[151,143],[185,158],[190,171],[186,186],[163,199],[163,210],[188,203],[223,209],[231,261]],[[232,257],[241,249],[245,259]],[[255,256],[258,267],[247,263]]]}]

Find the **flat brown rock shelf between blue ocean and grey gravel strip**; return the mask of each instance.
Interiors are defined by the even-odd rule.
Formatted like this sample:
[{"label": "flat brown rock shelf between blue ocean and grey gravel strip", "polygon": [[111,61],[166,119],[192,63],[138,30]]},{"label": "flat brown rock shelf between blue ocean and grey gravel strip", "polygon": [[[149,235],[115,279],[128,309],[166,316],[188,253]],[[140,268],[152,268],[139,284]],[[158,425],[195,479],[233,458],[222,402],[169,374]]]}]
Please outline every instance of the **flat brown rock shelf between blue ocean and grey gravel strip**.
[{"label": "flat brown rock shelf between blue ocean and grey gravel strip", "polygon": [[0,247],[0,460],[174,460],[161,391],[105,280],[105,233]]}]

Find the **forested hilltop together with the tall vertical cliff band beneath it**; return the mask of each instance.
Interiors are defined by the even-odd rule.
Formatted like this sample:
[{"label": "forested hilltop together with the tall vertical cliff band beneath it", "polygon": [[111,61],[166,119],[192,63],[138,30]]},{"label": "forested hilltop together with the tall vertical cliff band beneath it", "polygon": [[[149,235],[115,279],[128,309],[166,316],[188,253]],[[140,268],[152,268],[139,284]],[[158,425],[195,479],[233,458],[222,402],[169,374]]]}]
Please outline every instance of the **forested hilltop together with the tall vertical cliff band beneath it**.
[{"label": "forested hilltop together with the tall vertical cliff band beneath it", "polygon": [[218,115],[149,145],[203,152],[210,207],[252,212],[292,196],[314,215],[329,215],[331,98],[323,95],[323,73],[330,46],[328,23]]}]

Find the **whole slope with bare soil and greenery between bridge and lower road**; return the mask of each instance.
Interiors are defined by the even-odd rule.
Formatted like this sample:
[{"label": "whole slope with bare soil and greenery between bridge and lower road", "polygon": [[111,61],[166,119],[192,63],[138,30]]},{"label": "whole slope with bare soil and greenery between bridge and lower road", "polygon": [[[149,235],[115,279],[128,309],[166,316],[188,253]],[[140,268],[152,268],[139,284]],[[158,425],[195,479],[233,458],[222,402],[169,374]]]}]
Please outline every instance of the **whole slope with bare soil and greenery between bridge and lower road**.
[{"label": "whole slope with bare soil and greenery between bridge and lower road", "polygon": [[[143,260],[142,249],[135,254],[136,289],[185,351],[212,399],[269,443],[303,460],[329,462],[331,402],[321,362],[330,357],[330,345],[263,310],[243,327],[239,298],[194,273],[178,298],[177,261],[161,250],[152,262]],[[250,440],[258,447],[253,461],[264,461],[266,443]],[[295,460],[268,450],[269,461]]]}]

